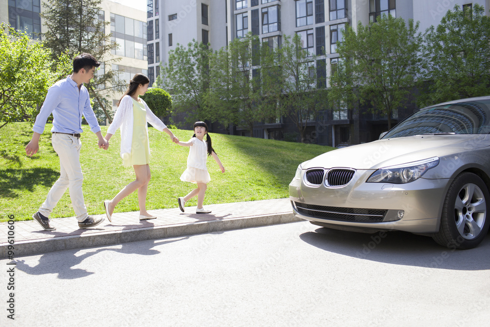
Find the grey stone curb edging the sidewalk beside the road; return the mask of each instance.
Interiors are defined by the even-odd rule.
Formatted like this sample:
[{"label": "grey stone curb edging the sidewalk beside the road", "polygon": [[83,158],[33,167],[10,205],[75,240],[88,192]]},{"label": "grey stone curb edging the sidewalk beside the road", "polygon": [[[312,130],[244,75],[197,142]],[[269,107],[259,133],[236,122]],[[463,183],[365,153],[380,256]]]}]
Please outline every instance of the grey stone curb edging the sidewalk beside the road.
[{"label": "grey stone curb edging the sidewalk beside the road", "polygon": [[[45,252],[91,248],[111,244],[202,234],[221,230],[285,224],[296,221],[301,221],[301,219],[294,217],[293,213],[291,212],[221,220],[198,221],[193,223],[137,229],[105,231],[88,235],[82,234],[39,240],[19,241],[15,242],[14,244],[14,253],[15,257],[18,257]],[[6,243],[0,245],[0,259],[7,257],[8,245],[9,244]]]}]

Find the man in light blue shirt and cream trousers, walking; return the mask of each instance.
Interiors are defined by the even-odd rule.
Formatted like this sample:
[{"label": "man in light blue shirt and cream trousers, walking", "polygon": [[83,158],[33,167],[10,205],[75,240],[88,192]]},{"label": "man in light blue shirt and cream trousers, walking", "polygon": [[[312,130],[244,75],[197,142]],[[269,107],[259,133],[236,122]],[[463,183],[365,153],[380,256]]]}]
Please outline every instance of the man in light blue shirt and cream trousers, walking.
[{"label": "man in light blue shirt and cream trousers, walking", "polygon": [[51,143],[60,158],[60,177],[49,190],[48,197],[39,211],[32,216],[45,230],[56,229],[49,225],[48,217],[67,188],[70,188],[70,198],[79,228],[94,227],[104,221],[103,217],[96,219],[87,214],[83,200],[83,175],[80,166],[82,115],[88,122],[90,130],[96,133],[99,149],[107,150],[109,147],[109,143],[102,137],[94,110],[90,106],[89,92],[83,85],[94,77],[98,66],[100,64],[97,59],[88,53],[82,53],[73,59],[73,74],[49,88],[46,100],[32,128],[34,131],[32,140],[25,147],[25,152],[29,156],[39,150],[39,138],[52,113]]}]

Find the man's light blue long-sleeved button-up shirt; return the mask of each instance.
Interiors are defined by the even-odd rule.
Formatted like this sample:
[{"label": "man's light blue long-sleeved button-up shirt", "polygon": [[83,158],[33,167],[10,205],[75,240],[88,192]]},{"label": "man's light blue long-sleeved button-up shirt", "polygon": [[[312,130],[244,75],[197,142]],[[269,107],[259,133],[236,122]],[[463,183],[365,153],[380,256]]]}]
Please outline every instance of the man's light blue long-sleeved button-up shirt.
[{"label": "man's light blue long-sleeved button-up shirt", "polygon": [[57,81],[49,88],[32,130],[42,134],[51,113],[53,114],[51,132],[82,133],[82,115],[89,123],[91,131],[94,133],[100,131],[97,117],[90,105],[89,91],[83,84],[78,91],[78,85],[70,76]]}]

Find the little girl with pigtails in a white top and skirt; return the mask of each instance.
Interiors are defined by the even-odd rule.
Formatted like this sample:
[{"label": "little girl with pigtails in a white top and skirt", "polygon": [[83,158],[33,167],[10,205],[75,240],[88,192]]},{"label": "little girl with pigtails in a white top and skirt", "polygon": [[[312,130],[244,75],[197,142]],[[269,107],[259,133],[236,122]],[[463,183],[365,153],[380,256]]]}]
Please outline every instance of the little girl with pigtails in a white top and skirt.
[{"label": "little girl with pigtails in a white top and skirt", "polygon": [[[206,135],[206,141],[204,141]],[[204,193],[206,192],[207,182],[211,180],[208,169],[206,168],[206,153],[212,155],[218,165],[220,165],[221,173],[224,173],[224,167],[221,164],[218,154],[211,146],[211,137],[208,134],[208,126],[204,122],[194,123],[194,135],[188,142],[176,142],[183,147],[190,147],[189,156],[187,157],[187,169],[184,171],[180,180],[184,182],[196,183],[197,188],[183,198],[178,198],[179,208],[184,212],[185,202],[194,198],[197,195],[196,213],[210,213],[202,207],[204,201]]]}]

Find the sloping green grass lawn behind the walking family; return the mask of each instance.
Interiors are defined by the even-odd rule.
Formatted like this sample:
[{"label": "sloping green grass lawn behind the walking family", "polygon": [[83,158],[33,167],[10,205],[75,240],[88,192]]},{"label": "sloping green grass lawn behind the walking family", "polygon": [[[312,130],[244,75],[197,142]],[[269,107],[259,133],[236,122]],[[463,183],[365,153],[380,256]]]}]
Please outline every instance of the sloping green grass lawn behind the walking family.
[{"label": "sloping green grass lawn behind the walking family", "polygon": [[[41,136],[39,151],[25,155],[32,137],[29,123],[7,124],[0,128],[0,221],[7,215],[15,220],[29,220],[46,199],[49,189],[59,177],[59,159],[51,146],[51,125]],[[102,127],[105,135],[107,126]],[[103,201],[112,199],[127,183],[134,180],[133,168],[125,168],[119,155],[119,131],[111,138],[109,150],[98,149],[97,136],[83,126],[80,162],[84,174],[83,194],[89,214],[104,213]],[[172,132],[188,141],[191,130]],[[177,197],[190,192],[195,184],[179,177],[187,165],[189,149],[180,147],[166,133],[150,127],[150,169],[147,209],[177,207]],[[288,197],[288,184],[299,163],[334,148],[313,144],[290,143],[234,135],[211,133],[213,148],[226,172],[208,157],[208,183],[204,205],[239,201],[255,201]],[[196,205],[197,197],[189,201]],[[137,211],[136,192],[126,197],[115,212]],[[58,202],[50,218],[74,216],[69,192]]]}]

